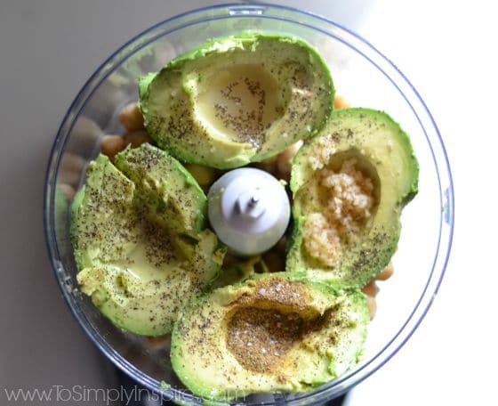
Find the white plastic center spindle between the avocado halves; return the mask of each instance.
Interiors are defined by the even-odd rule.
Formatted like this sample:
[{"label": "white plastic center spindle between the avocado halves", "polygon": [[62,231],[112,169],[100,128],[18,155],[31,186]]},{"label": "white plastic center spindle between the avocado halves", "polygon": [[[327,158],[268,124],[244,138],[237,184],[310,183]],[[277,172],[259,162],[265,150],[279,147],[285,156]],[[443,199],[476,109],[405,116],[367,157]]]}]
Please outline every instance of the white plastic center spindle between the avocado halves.
[{"label": "white plastic center spindle between the avocado halves", "polygon": [[272,248],[289,223],[291,210],[284,186],[260,169],[230,171],[213,183],[207,198],[213,230],[241,256]]}]

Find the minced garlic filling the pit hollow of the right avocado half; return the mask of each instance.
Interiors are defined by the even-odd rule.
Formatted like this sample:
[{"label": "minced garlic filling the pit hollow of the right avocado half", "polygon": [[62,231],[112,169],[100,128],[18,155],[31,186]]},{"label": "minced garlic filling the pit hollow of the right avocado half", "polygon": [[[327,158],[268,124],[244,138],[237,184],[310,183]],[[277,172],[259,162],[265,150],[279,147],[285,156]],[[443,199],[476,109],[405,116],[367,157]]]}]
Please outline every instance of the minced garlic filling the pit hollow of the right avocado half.
[{"label": "minced garlic filling the pit hollow of the right avocado half", "polygon": [[[310,159],[312,166],[315,162]],[[311,204],[320,204],[306,217],[303,242],[309,256],[325,266],[337,263],[342,248],[355,240],[376,204],[374,182],[357,162],[347,158],[338,170],[323,167],[312,186],[316,199]]]}]

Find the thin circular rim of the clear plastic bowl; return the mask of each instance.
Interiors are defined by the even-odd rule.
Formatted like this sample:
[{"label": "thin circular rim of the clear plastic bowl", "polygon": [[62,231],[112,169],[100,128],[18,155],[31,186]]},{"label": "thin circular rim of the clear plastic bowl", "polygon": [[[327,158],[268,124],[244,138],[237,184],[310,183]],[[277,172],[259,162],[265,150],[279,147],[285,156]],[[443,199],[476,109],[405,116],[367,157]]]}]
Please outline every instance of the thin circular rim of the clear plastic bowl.
[{"label": "thin circular rim of the clear plastic bowl", "polygon": [[[237,17],[261,17],[261,18],[270,18],[276,19],[275,15],[270,15],[269,17],[264,16],[261,12],[265,12],[268,14],[269,10],[276,12],[293,12],[295,13],[291,18],[287,16],[285,19],[280,17],[280,20],[285,20],[287,22],[298,23],[306,26],[307,28],[316,29],[321,31],[325,35],[329,37],[333,37],[336,40],[341,41],[344,45],[349,46],[357,53],[361,54],[365,59],[374,64],[374,66],[379,69],[391,82],[392,85],[397,87],[399,93],[405,98],[406,102],[410,106],[411,110],[414,112],[415,117],[417,118],[419,124],[422,127],[422,130],[425,134],[427,142],[429,143],[430,151],[432,154],[432,158],[434,160],[434,164],[436,166],[436,171],[438,174],[438,186],[439,186],[439,202],[442,207],[442,213],[439,218],[439,235],[438,235],[438,247],[436,249],[436,256],[434,258],[434,263],[432,265],[432,269],[430,272],[429,280],[427,281],[425,288],[422,290],[422,295],[420,296],[417,304],[414,307],[412,313],[410,313],[408,319],[403,323],[398,332],[394,337],[390,339],[390,341],[382,347],[379,353],[376,353],[374,357],[366,362],[363,362],[359,365],[357,369],[353,369],[348,373],[344,374],[340,378],[336,378],[333,381],[325,384],[324,386],[320,386],[317,390],[304,394],[296,394],[292,400],[287,401],[288,404],[310,404],[317,402],[325,402],[326,400],[332,399],[333,397],[339,396],[344,392],[348,391],[353,386],[356,386],[358,383],[363,381],[365,378],[369,377],[375,370],[380,369],[387,361],[390,361],[390,358],[394,356],[394,354],[398,353],[399,349],[403,345],[406,344],[408,338],[412,336],[414,330],[418,328],[421,321],[425,317],[426,313],[430,309],[430,305],[433,302],[434,297],[438,293],[438,289],[440,287],[441,281],[446,272],[446,266],[448,263],[448,259],[450,256],[452,242],[453,242],[453,234],[454,234],[454,183],[453,176],[451,173],[451,168],[449,164],[449,159],[446,154],[446,148],[444,142],[442,140],[441,134],[439,133],[438,126],[434,118],[432,118],[430,114],[430,110],[427,105],[423,101],[421,95],[417,92],[406,76],[398,69],[398,67],[390,61],[385,55],[379,52],[374,45],[370,44],[365,38],[360,37],[355,32],[350,30],[349,28],[345,28],[334,22],[333,20],[326,19],[320,15],[317,15],[313,12],[306,12],[298,8],[289,7],[285,5],[279,4],[267,4],[267,3],[250,3],[250,4],[241,4],[241,3],[228,3],[228,4],[216,4],[210,5],[202,8],[197,8],[195,10],[191,10],[189,12],[183,12],[176,16],[173,16],[169,19],[162,20],[157,22],[157,24],[152,25],[149,28],[142,30],[140,33],[132,37],[130,40],[124,43],[116,49],[114,53],[111,53],[108,58],[103,61],[97,69],[95,69],[92,75],[86,80],[84,85],[80,88],[78,93],[76,93],[76,97],[71,102],[68,111],[64,115],[64,118],[61,120],[61,124],[55,140],[52,144],[52,150],[50,151],[48,165],[46,169],[45,181],[44,181],[44,235],[45,235],[45,243],[47,247],[47,253],[52,264],[52,269],[55,273],[56,279],[58,280],[58,285],[60,287],[60,291],[66,304],[68,305],[71,313],[75,317],[78,325],[81,329],[84,330],[85,334],[91,339],[93,345],[97,346],[101,353],[104,353],[108,360],[112,361],[117,368],[124,371],[126,375],[132,378],[134,381],[139,383],[142,386],[147,387],[152,392],[157,394],[161,394],[163,399],[173,400],[175,402],[189,402],[195,401],[200,398],[197,396],[192,396],[190,394],[186,394],[184,391],[174,389],[173,387],[162,387],[159,382],[154,378],[150,378],[147,374],[143,373],[140,369],[137,369],[130,362],[126,361],[123,356],[114,350],[110,345],[108,345],[107,341],[105,341],[102,337],[93,334],[93,328],[91,323],[87,320],[84,312],[74,305],[71,301],[72,292],[71,289],[68,288],[68,280],[65,279],[63,274],[63,265],[60,260],[59,248],[57,246],[57,240],[55,238],[55,229],[54,229],[54,199],[55,199],[55,180],[58,175],[59,166],[60,166],[60,158],[65,148],[65,143],[68,139],[68,134],[71,133],[73,126],[76,122],[76,119],[80,116],[81,111],[84,109],[85,102],[87,102],[91,97],[92,93],[99,87],[101,81],[103,81],[108,75],[110,75],[120,64],[122,61],[127,59],[133,53],[139,51],[145,45],[149,45],[151,42],[156,40],[159,37],[164,37],[168,33],[172,32],[172,30],[163,30],[156,36],[147,37],[150,34],[153,34],[157,29],[167,26],[174,21],[181,21],[182,19],[196,16],[202,14],[204,12],[210,11],[226,11],[222,16],[218,16],[218,20],[227,19],[230,17],[231,11],[237,11]],[[240,12],[240,13],[239,13]],[[244,14],[246,12],[246,14]],[[324,30],[311,26],[309,24],[305,24],[301,21],[294,20],[298,15],[310,18],[314,20],[314,22],[322,23],[327,25],[329,28],[335,28],[338,30],[338,33],[335,35],[331,35],[330,32],[325,32]],[[203,20],[206,20],[203,18]],[[208,19],[213,20],[213,19]],[[190,24],[198,23],[201,20],[195,20]],[[181,25],[176,29],[185,28],[187,25]],[[348,37],[348,40],[345,40],[342,37]],[[146,41],[141,41],[141,39],[146,38]],[[358,46],[364,46],[363,50],[357,49],[354,44],[351,44],[349,41],[357,42]],[[134,46],[133,46],[134,45]],[[123,53],[120,60],[119,56]],[[372,58],[378,58],[383,67],[380,67],[376,61],[373,61]],[[115,61],[116,60],[116,61]],[[112,62],[112,66],[109,63]],[[388,74],[384,71],[384,69],[390,69],[391,73]],[[103,75],[102,75],[103,73]],[[395,83],[393,78],[390,75],[395,74],[398,75],[398,79],[401,80],[401,84]],[[100,77],[101,75],[101,77]],[[97,80],[98,79],[98,80]],[[94,83],[98,82],[98,83]],[[406,97],[406,94],[400,89],[399,85],[406,86],[406,90],[413,93],[414,99],[409,101]],[[87,92],[90,89],[90,92]],[[436,138],[433,140],[434,145],[430,142],[429,135],[427,134],[425,126],[422,124],[422,120],[414,110],[413,102],[417,102],[419,104],[419,110],[422,111],[423,114],[426,115],[425,120],[427,121],[427,125],[431,126],[432,130],[434,130],[434,134]],[[75,110],[77,112],[75,113]],[[434,150],[437,147],[438,150]],[[436,156],[438,155],[438,157]],[[439,166],[439,165],[441,166]],[[441,173],[439,172],[441,170]],[[441,175],[445,175],[445,187],[443,190]],[[444,229],[443,227],[447,228]],[[444,235],[443,235],[444,234]],[[445,241],[442,241],[444,237]],[[446,253],[443,253],[441,256],[440,248],[441,243],[446,242]],[[436,280],[434,277],[434,272],[436,266],[439,266],[439,272]],[[428,296],[428,291],[431,293]],[[388,351],[390,350],[390,351]],[[379,360],[382,354],[387,352],[387,356]],[[359,374],[359,372],[364,372],[363,374]],[[345,384],[345,385],[341,385]],[[336,390],[333,390],[336,388]],[[180,395],[180,396],[179,396]],[[211,401],[213,402],[213,401]],[[216,402],[215,402],[216,403]],[[221,404],[221,403],[220,403]],[[251,404],[251,403],[245,403]],[[276,404],[275,402],[262,402],[257,403],[262,405],[272,405]]]}]

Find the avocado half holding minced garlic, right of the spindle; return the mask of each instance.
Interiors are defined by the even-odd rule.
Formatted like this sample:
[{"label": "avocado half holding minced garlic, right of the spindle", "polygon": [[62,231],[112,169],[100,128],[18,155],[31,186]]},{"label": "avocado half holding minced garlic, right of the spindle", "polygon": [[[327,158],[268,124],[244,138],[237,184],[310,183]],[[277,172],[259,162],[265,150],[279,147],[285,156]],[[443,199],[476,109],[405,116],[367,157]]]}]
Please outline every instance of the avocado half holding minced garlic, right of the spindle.
[{"label": "avocado half holding minced garlic, right of the spindle", "polygon": [[418,163],[387,114],[333,112],[293,158],[293,234],[286,270],[364,286],[398,246],[402,208],[417,193]]}]

